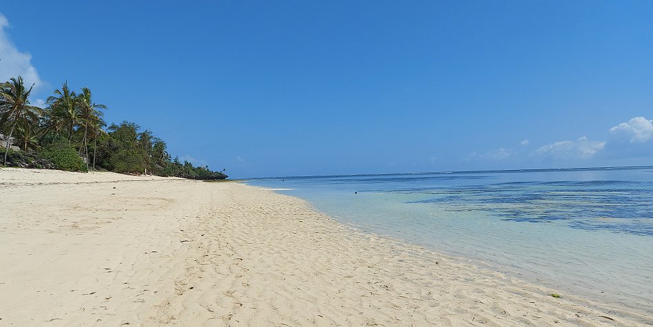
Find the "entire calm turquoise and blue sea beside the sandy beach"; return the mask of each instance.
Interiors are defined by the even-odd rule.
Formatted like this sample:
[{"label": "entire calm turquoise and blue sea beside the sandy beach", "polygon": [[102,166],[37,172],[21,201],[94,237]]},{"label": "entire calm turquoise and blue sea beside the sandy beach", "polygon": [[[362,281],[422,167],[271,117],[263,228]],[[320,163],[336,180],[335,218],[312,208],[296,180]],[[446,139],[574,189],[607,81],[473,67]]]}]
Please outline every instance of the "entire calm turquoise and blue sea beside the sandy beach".
[{"label": "entire calm turquoise and blue sea beside the sandy beach", "polygon": [[290,189],[279,192],[363,231],[653,316],[653,167],[248,183]]}]

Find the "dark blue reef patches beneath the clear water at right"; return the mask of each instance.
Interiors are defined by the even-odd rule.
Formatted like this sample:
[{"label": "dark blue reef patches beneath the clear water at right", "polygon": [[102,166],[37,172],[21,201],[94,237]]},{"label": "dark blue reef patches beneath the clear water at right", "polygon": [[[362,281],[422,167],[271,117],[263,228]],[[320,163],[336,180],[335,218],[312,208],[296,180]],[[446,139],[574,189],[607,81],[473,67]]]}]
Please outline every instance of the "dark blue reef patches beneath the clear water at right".
[{"label": "dark blue reef patches beneath the clear water at right", "polygon": [[446,204],[445,211],[484,211],[516,222],[568,220],[575,229],[653,236],[653,182],[501,182],[394,192],[429,194],[407,203]]}]

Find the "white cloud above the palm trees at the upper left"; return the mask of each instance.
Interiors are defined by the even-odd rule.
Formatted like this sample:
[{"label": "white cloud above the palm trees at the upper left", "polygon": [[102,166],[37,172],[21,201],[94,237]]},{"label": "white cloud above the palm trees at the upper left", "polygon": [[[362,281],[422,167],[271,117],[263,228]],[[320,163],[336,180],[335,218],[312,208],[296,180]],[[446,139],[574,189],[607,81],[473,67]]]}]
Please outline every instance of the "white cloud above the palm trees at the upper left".
[{"label": "white cloud above the palm trees at the upper left", "polygon": [[9,21],[0,13],[0,81],[23,76],[23,81],[28,87],[32,83],[35,84],[34,89],[43,86],[39,73],[30,63],[32,55],[28,52],[20,52],[16,48],[9,38],[7,28],[9,28]]}]

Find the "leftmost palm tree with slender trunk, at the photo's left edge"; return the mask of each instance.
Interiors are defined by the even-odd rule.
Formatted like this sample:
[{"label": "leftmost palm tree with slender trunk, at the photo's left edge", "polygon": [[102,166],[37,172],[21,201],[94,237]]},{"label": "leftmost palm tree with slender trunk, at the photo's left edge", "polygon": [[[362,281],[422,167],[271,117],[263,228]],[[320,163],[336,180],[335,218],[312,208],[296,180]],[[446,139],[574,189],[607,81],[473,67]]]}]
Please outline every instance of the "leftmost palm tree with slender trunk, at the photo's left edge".
[{"label": "leftmost palm tree with slender trunk, at the photo's left edge", "polygon": [[9,153],[9,140],[14,134],[14,129],[19,124],[28,125],[26,122],[38,121],[41,116],[41,108],[30,105],[30,93],[32,87],[26,89],[23,78],[11,78],[10,81],[3,83],[0,87],[0,129],[6,128],[10,124],[9,137],[5,149],[5,158],[3,165],[7,165],[7,154]]}]

